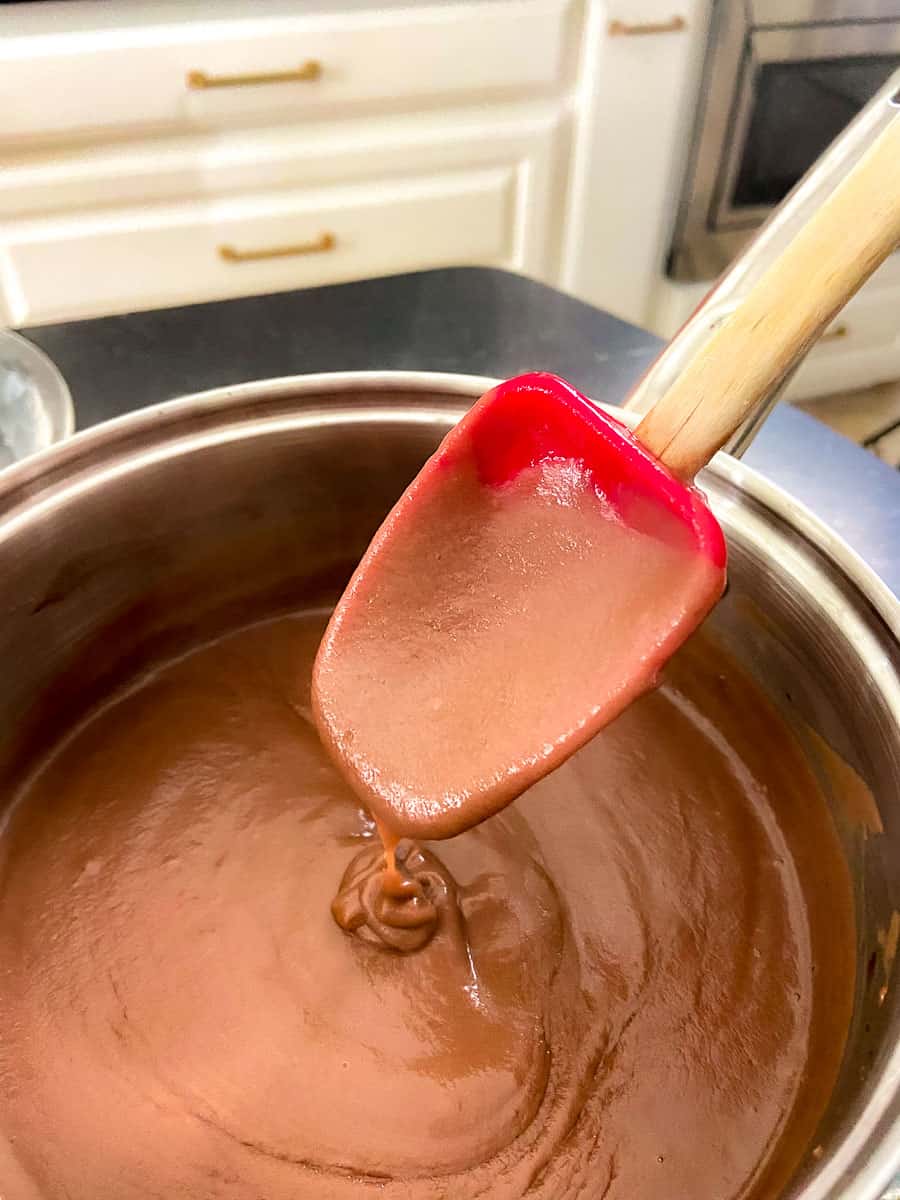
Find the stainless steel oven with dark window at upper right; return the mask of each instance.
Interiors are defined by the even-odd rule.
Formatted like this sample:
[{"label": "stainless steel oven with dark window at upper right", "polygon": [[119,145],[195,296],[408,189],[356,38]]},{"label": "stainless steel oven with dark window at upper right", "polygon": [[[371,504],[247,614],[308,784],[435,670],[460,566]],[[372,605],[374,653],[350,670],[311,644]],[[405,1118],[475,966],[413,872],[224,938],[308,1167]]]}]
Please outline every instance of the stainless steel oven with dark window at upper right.
[{"label": "stainless steel oven with dark window at upper right", "polygon": [[716,0],[667,274],[715,278],[900,67],[900,0]]}]

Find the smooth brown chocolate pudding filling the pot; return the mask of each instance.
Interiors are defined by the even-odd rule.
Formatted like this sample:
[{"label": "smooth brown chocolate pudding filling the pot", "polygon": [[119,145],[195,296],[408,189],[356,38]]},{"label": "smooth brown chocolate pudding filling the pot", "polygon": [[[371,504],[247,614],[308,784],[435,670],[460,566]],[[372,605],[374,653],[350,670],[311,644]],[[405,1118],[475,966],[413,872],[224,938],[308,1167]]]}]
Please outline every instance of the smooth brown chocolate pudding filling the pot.
[{"label": "smooth brown chocolate pudding filling the pot", "polygon": [[385,854],[300,614],[163,664],[0,836],[5,1200],[776,1196],[853,988],[799,749],[703,635],[514,805]]}]

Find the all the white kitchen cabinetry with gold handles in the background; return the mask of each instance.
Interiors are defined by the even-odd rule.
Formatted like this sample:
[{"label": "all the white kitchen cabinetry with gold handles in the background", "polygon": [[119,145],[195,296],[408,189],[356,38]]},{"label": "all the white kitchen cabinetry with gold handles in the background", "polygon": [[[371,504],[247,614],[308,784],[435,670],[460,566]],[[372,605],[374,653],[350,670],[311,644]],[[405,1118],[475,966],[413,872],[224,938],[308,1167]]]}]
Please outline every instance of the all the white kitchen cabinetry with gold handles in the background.
[{"label": "all the white kitchen cabinetry with gold handles in the background", "polygon": [[[0,323],[466,263],[671,335],[710,6],[0,5]],[[792,395],[900,374],[892,270]]]}]

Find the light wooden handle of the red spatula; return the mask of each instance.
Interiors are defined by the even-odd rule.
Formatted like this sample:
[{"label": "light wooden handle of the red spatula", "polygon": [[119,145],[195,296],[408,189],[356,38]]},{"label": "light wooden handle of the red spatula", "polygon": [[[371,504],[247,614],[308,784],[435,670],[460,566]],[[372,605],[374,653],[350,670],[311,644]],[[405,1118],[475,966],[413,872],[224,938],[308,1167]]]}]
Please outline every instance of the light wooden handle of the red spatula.
[{"label": "light wooden handle of the red spatula", "polygon": [[692,479],[899,245],[900,112],[688,362],[637,437]]}]

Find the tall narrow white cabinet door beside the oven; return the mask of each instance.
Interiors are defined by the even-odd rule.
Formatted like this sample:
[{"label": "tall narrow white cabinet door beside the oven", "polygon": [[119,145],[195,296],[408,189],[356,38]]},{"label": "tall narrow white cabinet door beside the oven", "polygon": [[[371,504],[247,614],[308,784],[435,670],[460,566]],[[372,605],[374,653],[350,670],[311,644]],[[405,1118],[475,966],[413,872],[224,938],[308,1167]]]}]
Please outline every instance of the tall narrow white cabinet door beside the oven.
[{"label": "tall narrow white cabinet door beside the oven", "polygon": [[706,40],[698,0],[592,0],[563,286],[646,324]]}]

